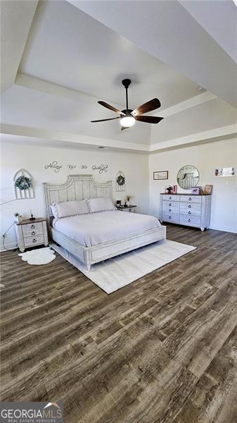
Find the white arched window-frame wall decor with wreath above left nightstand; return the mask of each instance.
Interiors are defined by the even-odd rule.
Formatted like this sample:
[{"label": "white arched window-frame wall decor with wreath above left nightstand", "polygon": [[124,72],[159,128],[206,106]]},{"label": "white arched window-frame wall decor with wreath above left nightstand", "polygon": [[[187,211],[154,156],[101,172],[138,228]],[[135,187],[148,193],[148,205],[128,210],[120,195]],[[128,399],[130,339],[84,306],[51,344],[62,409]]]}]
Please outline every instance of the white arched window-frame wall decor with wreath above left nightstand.
[{"label": "white arched window-frame wall decor with wreath above left nightstand", "polygon": [[25,169],[17,171],[13,177],[15,199],[34,198],[33,178]]}]

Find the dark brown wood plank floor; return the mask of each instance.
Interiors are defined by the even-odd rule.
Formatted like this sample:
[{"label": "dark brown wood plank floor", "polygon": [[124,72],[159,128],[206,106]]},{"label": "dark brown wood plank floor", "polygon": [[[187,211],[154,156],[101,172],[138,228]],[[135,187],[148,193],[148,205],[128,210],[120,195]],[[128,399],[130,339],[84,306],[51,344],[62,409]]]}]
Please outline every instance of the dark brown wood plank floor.
[{"label": "dark brown wood plank floor", "polygon": [[66,423],[237,422],[237,235],[106,295],[62,257],[1,254],[1,400],[63,400]]}]

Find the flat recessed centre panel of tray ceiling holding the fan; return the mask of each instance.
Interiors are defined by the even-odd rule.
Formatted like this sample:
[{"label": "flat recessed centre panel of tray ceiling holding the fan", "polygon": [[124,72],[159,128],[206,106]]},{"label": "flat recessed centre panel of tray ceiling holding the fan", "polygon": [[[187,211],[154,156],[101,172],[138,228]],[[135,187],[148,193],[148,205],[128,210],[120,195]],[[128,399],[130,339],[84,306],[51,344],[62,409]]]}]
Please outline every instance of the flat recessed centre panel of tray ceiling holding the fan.
[{"label": "flat recessed centre panel of tray ceiling holding the fan", "polygon": [[132,108],[153,97],[167,108],[198,87],[67,1],[40,2],[20,73],[124,106],[121,81],[130,78]]}]

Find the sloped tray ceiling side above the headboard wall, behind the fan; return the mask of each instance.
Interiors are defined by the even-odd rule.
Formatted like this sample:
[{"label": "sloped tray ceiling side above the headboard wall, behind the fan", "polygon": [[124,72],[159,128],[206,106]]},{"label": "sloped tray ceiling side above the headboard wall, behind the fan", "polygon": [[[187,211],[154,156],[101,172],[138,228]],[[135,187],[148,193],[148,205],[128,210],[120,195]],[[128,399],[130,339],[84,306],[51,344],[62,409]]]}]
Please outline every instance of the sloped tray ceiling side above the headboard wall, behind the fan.
[{"label": "sloped tray ceiling side above the headboard wall, behind the fan", "polygon": [[73,100],[56,95],[37,92],[13,85],[2,94],[1,118],[8,125],[23,125],[31,128],[57,130],[65,133],[108,138],[121,142],[136,142],[148,145],[150,125],[137,122],[131,131],[121,131],[119,120],[90,123],[90,118],[113,118],[113,111],[83,100]]}]

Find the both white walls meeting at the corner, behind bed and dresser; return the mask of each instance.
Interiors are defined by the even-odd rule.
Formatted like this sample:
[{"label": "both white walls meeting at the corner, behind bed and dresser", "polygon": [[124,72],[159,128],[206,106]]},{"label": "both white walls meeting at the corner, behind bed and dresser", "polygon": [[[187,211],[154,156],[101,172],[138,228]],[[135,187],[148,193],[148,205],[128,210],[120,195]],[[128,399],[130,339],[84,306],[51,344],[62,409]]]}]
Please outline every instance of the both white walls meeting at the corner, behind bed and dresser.
[{"label": "both white walls meeting at the corner, behind bed and dresser", "polygon": [[[32,173],[36,197],[32,200],[17,200],[0,206],[2,235],[13,223],[14,213],[20,212],[24,218],[29,217],[30,209],[35,216],[44,216],[44,197],[42,182],[63,183],[69,173],[92,173],[98,181],[113,180],[114,200],[133,195],[132,202],[139,206],[138,212],[160,216],[160,192],[165,185],[176,183],[179,168],[193,164],[200,172],[198,185],[213,184],[211,228],[237,233],[237,177],[214,178],[213,170],[218,167],[236,166],[237,140],[224,140],[210,144],[174,149],[152,154],[109,152],[96,149],[86,151],[63,147],[46,147],[4,141],[1,146],[1,195],[0,202],[14,198],[13,175],[18,169],[25,168]],[[59,173],[44,166],[56,160],[63,168]],[[77,168],[68,169],[68,164],[77,164]],[[87,164],[82,170],[80,166]],[[108,172],[100,175],[91,171],[91,166],[108,164]],[[124,171],[126,191],[115,192],[115,175]],[[153,180],[153,171],[169,171],[168,180]],[[182,191],[179,188],[179,191]],[[184,191],[184,190],[183,190]],[[150,202],[149,202],[150,198]],[[1,249],[3,238],[1,236]],[[14,228],[6,236],[6,247],[15,247]]]}]

